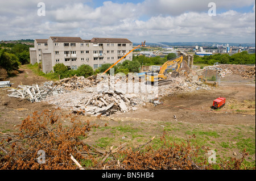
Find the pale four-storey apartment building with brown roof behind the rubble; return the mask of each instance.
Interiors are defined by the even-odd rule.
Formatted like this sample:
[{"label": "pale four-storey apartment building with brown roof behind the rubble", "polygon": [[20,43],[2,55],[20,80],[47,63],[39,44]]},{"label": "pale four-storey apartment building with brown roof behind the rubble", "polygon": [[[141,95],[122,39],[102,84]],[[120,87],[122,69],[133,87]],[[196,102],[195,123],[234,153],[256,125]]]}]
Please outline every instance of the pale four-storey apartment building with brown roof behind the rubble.
[{"label": "pale four-storey apartment building with brown roof behind the rubble", "polygon": [[[69,69],[77,69],[80,65],[90,65],[93,69],[102,64],[114,64],[133,49],[128,39],[98,38],[82,40],[80,37],[56,37],[35,39],[35,47],[30,48],[30,62],[42,62],[44,73],[53,71],[53,66],[63,63]],[[132,60],[129,54],[122,61]],[[120,61],[119,63],[122,63]]]}]

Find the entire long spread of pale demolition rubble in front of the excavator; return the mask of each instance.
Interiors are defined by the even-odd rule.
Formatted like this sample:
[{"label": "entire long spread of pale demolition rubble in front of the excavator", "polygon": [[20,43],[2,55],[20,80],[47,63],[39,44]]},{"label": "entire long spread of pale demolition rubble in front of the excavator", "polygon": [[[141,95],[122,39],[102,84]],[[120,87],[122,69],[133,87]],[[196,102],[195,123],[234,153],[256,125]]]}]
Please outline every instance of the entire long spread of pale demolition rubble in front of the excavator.
[{"label": "entire long spread of pale demolition rubble in front of the excavator", "polygon": [[97,116],[135,111],[138,105],[155,97],[199,89],[210,88],[192,77],[172,78],[170,85],[157,87],[146,85],[134,77],[111,79],[107,76],[103,79],[93,75],[88,78],[74,76],[56,82],[44,82],[42,86],[19,85],[17,89],[10,90],[9,96],[31,102],[45,101],[73,112]]}]

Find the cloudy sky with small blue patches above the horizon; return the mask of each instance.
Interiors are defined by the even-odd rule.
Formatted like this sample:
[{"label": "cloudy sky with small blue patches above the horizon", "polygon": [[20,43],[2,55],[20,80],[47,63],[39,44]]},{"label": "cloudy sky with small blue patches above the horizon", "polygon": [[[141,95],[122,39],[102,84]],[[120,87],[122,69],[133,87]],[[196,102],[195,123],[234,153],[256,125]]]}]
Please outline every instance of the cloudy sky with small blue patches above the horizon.
[{"label": "cloudy sky with small blue patches above the horizon", "polygon": [[255,0],[0,0],[0,40],[49,36],[255,43]]}]

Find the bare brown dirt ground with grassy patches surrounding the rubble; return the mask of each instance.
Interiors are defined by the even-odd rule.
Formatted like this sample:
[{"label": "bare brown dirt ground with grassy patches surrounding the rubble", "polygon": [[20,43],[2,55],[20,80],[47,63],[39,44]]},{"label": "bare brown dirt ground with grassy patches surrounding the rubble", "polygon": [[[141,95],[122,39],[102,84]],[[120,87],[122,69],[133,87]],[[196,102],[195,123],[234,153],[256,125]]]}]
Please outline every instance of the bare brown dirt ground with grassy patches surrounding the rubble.
[{"label": "bare brown dirt ground with grassy patches surrounding the rubble", "polygon": [[[20,68],[20,74],[9,80],[14,83],[11,86],[13,88],[20,83],[32,85],[48,81],[35,75],[30,69],[24,68]],[[44,102],[31,103],[28,100],[10,98],[7,96],[8,93],[7,89],[0,89],[0,132],[2,133],[18,131],[18,125],[34,111],[54,109],[52,105]],[[210,106],[219,96],[226,98],[226,104],[220,110],[212,110]],[[200,133],[199,137],[206,139],[208,146],[218,149],[218,153],[225,152],[226,156],[232,155],[234,151],[238,156],[241,155],[239,145],[236,146],[237,142],[242,141],[241,139],[252,138],[255,142],[255,78],[243,79],[239,75],[231,75],[221,78],[220,87],[213,90],[180,92],[180,94],[164,96],[160,101],[163,104],[153,106],[151,103],[146,103],[138,107],[137,111],[117,113],[109,117],[80,116],[81,120],[90,120],[100,125],[100,129],[90,132],[89,137],[84,141],[97,144],[102,141],[101,138],[105,138],[105,143],[109,141],[109,144],[118,145],[119,142],[128,142],[130,146],[135,146],[148,141],[152,136],[160,136],[164,130],[176,140],[185,138],[187,136],[185,133]],[[63,110],[63,113],[69,111]],[[104,127],[106,123],[108,127]],[[217,137],[206,135],[215,132]],[[237,135],[234,133],[240,135],[240,140],[236,139]],[[232,135],[233,137],[230,138]],[[213,142],[220,144],[212,144]],[[223,142],[228,143],[229,147],[221,146]],[[253,149],[254,152],[250,157],[255,162],[255,143]]]}]

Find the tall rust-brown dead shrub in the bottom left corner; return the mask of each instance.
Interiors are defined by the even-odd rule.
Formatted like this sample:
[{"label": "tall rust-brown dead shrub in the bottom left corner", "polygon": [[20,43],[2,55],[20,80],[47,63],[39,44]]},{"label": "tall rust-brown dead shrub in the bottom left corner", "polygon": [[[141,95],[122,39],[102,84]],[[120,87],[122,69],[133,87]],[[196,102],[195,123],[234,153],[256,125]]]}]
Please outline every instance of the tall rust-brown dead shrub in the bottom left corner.
[{"label": "tall rust-brown dead shrub in the bottom left corner", "polygon": [[[5,154],[0,150],[0,169],[77,169],[71,155],[77,160],[84,158],[80,150],[88,151],[88,147],[79,136],[87,136],[92,125],[68,115],[65,118],[72,125],[63,127],[58,112],[60,110],[34,112],[22,121],[18,137],[2,140],[0,147]],[[45,152],[45,163],[38,162],[39,150]]]}]

